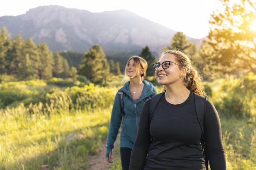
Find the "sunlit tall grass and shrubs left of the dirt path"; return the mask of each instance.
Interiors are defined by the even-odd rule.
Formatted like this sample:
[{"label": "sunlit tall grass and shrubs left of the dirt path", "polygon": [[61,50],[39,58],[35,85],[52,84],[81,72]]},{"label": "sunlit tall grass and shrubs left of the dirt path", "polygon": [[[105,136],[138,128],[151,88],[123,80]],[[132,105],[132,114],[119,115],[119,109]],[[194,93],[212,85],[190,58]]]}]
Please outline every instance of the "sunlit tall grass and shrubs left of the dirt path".
[{"label": "sunlit tall grass and shrubs left of the dirt path", "polygon": [[84,169],[106,139],[114,94],[91,84],[0,110],[0,169]]}]

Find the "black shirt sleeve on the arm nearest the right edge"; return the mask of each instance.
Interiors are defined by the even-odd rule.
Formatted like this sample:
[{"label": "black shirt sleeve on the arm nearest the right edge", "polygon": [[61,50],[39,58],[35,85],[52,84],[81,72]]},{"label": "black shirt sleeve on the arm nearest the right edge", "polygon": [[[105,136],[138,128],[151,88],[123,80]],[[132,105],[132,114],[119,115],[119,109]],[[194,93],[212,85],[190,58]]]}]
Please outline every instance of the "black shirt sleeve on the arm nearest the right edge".
[{"label": "black shirt sleeve on the arm nearest the right edge", "polygon": [[212,102],[207,100],[204,118],[205,149],[211,170],[226,170],[225,153],[221,137],[221,122]]}]

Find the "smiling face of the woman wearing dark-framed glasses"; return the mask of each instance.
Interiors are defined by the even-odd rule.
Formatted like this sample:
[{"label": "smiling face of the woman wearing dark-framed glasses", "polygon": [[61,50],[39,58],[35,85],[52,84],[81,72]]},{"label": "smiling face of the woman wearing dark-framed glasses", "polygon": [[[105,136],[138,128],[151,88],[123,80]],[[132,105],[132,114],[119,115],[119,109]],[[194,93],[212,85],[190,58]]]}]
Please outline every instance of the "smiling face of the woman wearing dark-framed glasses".
[{"label": "smiling face of the woman wearing dark-framed glasses", "polygon": [[[162,64],[165,61],[172,61],[179,64],[176,61],[174,54],[163,54],[159,62]],[[174,83],[183,84],[183,75],[186,73],[185,69],[179,67],[179,65],[170,63],[169,68],[163,68],[162,65],[155,71],[155,76],[157,77],[158,83],[160,85],[170,85]]]}]

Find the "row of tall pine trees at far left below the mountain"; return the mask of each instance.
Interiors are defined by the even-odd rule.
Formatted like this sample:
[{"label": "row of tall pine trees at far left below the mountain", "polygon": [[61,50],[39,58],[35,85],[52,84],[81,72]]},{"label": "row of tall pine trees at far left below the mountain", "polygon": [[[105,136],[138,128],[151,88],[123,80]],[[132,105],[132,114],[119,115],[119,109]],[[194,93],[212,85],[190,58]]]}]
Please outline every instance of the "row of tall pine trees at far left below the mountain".
[{"label": "row of tall pine trees at far left below the mountain", "polygon": [[52,57],[46,43],[38,45],[32,38],[23,40],[18,34],[13,40],[5,27],[0,32],[0,74],[14,75],[20,80],[49,79],[52,74],[66,78],[69,64],[59,54]]}]

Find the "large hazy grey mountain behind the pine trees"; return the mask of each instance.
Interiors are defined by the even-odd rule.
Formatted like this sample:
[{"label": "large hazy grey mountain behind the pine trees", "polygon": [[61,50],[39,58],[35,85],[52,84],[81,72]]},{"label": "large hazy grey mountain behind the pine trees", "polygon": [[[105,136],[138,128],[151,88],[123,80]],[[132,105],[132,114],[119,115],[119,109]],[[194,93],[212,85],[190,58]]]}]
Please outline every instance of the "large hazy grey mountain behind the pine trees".
[{"label": "large hazy grey mountain behind the pine trees", "polygon": [[[153,53],[171,41],[176,31],[127,10],[92,13],[62,6],[39,6],[26,14],[0,17],[11,37],[21,34],[36,43],[46,42],[52,51],[84,53],[99,44],[105,53],[140,51],[148,45]],[[192,42],[200,40],[188,37]]]}]

